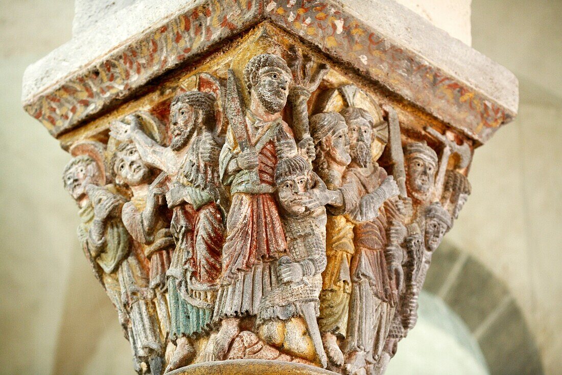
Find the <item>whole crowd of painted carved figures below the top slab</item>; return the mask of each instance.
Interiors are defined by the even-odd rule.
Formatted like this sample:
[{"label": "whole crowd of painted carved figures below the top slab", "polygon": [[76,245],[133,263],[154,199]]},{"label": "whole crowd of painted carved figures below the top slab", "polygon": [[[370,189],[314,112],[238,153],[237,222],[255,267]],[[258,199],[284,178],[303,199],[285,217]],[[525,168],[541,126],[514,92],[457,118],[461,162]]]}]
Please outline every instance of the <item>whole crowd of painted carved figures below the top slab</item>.
[{"label": "whole crowd of painted carved figures below the top slab", "polygon": [[71,148],[80,242],[139,374],[225,359],[382,374],[414,327],[470,149],[433,128],[440,155],[406,139],[353,84],[311,113],[328,70],[262,53],[199,74],[165,121],[138,111]]}]

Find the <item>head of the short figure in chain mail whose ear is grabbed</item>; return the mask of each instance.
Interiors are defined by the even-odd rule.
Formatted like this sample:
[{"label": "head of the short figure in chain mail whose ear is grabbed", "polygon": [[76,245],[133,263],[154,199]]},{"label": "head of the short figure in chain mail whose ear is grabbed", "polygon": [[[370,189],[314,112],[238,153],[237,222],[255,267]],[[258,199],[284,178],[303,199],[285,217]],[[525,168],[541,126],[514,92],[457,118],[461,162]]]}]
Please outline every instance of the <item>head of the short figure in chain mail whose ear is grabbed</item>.
[{"label": "head of the short figure in chain mail whose ear is grabbed", "polygon": [[302,193],[309,189],[310,164],[296,155],[280,159],[275,167],[275,184],[279,202],[288,212],[302,213],[305,207],[301,205]]}]

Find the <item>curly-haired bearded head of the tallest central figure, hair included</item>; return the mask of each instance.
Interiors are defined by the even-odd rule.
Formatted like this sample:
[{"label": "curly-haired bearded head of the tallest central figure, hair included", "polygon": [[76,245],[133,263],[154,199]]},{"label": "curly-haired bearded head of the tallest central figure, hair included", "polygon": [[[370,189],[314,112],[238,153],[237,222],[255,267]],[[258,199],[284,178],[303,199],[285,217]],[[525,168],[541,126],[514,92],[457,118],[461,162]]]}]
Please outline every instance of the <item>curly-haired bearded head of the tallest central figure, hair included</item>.
[{"label": "curly-haired bearded head of the tallest central figure, hair included", "polygon": [[271,114],[279,113],[287,104],[292,79],[285,60],[271,53],[252,57],[244,69],[244,83],[251,100],[259,101]]}]

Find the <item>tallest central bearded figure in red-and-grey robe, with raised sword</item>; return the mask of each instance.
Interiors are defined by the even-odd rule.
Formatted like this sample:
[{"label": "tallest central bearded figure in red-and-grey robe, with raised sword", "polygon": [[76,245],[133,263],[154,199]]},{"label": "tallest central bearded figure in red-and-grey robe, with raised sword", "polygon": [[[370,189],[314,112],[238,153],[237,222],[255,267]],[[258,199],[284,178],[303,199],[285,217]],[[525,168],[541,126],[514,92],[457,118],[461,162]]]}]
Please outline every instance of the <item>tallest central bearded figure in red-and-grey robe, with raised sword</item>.
[{"label": "tallest central bearded figure in red-and-grey robe, with raised sword", "polygon": [[232,205],[226,222],[223,274],[215,305],[221,328],[214,358],[224,358],[243,316],[255,316],[261,298],[276,283],[272,265],[287,243],[275,204],[277,161],[297,153],[281,110],[287,102],[291,71],[277,56],[253,57],[244,69],[250,108],[244,110],[238,84],[229,72],[226,115],[229,129],[220,154],[221,181],[230,186]]}]

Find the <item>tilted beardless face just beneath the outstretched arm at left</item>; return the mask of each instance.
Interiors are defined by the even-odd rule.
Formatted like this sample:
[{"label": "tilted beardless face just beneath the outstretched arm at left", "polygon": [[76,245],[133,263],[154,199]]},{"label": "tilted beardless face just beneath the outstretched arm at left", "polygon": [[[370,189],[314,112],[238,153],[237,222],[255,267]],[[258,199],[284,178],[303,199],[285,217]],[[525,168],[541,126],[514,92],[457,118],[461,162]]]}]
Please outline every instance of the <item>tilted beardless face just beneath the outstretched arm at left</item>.
[{"label": "tilted beardless face just beneath the outstretched arm at left", "polygon": [[116,151],[115,158],[114,172],[117,180],[130,186],[137,186],[148,181],[150,169],[144,164],[134,145],[131,144],[123,150]]}]

